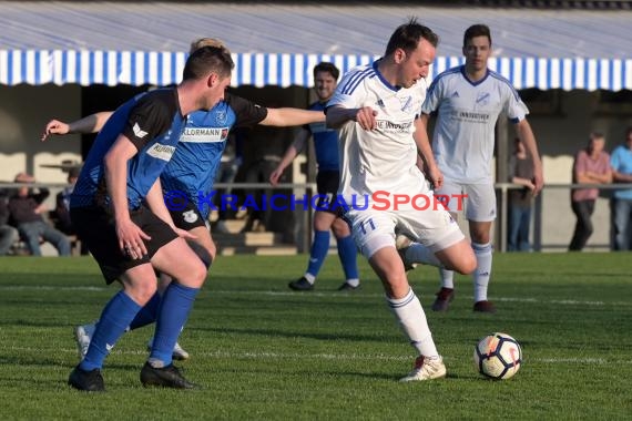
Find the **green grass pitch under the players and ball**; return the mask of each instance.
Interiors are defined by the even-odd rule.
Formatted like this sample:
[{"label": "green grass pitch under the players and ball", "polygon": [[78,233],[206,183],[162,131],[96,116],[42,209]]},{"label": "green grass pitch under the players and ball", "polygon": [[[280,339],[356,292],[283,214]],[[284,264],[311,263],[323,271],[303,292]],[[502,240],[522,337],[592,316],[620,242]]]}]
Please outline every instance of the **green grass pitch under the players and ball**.
[{"label": "green grass pitch under the players and ball", "polygon": [[[200,294],[180,363],[202,390],[144,389],[139,372],[152,328],[126,333],[105,361],[108,392],[69,389],[72,328],[99,317],[115,292],[89,257],[0,258],[2,419],[628,419],[632,413],[630,254],[497,254],[490,288],[499,312],[471,311],[457,277],[447,314],[429,310],[436,269],[409,279],[448,378],[398,383],[414,350],[359,258],[363,287],[337,292],[329,256],[312,292],[294,292],[306,256],[221,257]],[[506,331],[524,363],[511,380],[473,368],[478,339]]]}]

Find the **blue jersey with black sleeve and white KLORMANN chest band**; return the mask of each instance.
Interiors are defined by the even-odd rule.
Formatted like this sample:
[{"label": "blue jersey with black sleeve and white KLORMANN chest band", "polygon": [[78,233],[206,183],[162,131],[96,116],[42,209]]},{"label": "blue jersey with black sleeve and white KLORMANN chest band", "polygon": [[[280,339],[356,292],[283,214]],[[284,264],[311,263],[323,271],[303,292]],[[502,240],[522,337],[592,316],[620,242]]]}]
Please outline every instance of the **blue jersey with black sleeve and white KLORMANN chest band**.
[{"label": "blue jersey with black sleeve and white KLORMANN chest band", "polygon": [[161,175],[165,197],[180,199],[185,195],[206,217],[228,132],[233,127],[255,125],[266,116],[267,109],[230,93],[212,110],[188,114],[177,150]]}]

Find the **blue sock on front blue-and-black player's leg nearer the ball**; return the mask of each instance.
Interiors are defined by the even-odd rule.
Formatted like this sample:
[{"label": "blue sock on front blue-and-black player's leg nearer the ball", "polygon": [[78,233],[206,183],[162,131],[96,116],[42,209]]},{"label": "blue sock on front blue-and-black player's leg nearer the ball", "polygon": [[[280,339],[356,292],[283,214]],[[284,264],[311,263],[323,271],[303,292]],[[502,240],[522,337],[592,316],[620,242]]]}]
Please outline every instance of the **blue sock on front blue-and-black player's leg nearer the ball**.
[{"label": "blue sock on front blue-and-black player's leg nearer the ball", "polygon": [[177,341],[180,331],[186,324],[198,291],[200,288],[190,288],[177,283],[169,285],[159,308],[150,362],[161,361],[163,367],[171,364],[173,347]]}]

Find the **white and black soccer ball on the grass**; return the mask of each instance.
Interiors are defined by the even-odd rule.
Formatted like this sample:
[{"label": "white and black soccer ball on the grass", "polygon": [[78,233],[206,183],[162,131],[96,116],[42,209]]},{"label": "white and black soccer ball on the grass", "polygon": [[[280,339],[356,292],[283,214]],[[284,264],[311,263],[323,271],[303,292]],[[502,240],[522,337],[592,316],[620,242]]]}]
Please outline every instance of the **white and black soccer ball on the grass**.
[{"label": "white and black soccer ball on the grass", "polygon": [[507,333],[496,332],[482,338],[475,348],[476,369],[482,376],[504,380],[512,378],[522,364],[522,349]]}]

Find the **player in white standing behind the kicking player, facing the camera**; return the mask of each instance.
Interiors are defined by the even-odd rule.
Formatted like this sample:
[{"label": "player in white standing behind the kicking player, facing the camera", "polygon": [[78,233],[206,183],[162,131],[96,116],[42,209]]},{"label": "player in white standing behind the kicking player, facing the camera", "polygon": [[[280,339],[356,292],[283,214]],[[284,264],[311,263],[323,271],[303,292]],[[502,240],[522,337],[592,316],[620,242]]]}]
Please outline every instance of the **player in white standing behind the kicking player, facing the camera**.
[{"label": "player in white standing behind the kicking player, facing the camera", "polygon": [[[475,24],[466,30],[463,55],[465,65],[447,70],[432,81],[421,106],[421,121],[427,127],[429,114],[438,114],[432,150],[445,182],[442,186],[436,186],[435,194],[448,198],[446,204],[455,215],[461,210],[455,197],[467,195],[466,217],[478,261],[473,273],[473,310],[495,312],[496,307],[488,300],[487,289],[492,256],[490,232],[496,219],[491,162],[495,126],[501,112],[514,123],[518,136],[532,157],[534,195],[542,188],[542,164],[527,121],[529,110],[511,83],[487,68],[491,55],[491,34],[487,25]],[[415,247],[406,251],[407,257],[415,256]],[[432,305],[435,311],[446,311],[453,298],[453,274],[447,268],[440,271],[442,287]]]}]

